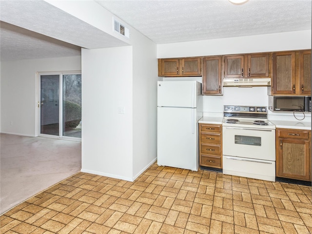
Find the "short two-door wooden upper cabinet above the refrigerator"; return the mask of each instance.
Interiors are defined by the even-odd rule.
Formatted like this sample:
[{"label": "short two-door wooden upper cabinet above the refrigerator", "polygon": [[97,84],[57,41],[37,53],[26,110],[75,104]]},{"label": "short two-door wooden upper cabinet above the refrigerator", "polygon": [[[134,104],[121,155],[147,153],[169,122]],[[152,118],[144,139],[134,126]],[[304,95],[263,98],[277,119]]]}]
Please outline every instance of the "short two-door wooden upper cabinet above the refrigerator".
[{"label": "short two-door wooden upper cabinet above the refrigerator", "polygon": [[201,76],[201,57],[158,59],[159,77]]}]

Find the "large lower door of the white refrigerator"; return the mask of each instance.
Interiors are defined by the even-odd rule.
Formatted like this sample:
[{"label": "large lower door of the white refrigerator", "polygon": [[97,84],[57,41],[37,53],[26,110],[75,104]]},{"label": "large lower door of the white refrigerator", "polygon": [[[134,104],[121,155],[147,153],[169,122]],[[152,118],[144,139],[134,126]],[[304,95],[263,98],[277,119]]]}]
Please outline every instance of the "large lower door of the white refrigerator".
[{"label": "large lower door of the white refrigerator", "polygon": [[198,170],[196,108],[157,107],[157,164]]}]

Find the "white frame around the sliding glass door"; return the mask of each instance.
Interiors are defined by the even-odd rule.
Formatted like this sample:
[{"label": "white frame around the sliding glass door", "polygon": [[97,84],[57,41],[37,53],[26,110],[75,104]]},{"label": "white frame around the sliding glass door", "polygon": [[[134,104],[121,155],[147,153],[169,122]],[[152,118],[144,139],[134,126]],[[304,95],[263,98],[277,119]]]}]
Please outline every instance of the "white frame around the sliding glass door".
[{"label": "white frame around the sliding glass door", "polygon": [[[47,138],[56,138],[56,139],[64,139],[64,140],[73,140],[73,141],[81,141],[79,137],[67,137],[63,136],[63,75],[68,74],[81,74],[81,71],[58,71],[58,72],[36,72],[36,119],[35,119],[35,133],[36,137],[47,137]],[[44,75],[59,75],[59,136],[49,135],[49,134],[41,134],[40,133],[40,76]]]}]

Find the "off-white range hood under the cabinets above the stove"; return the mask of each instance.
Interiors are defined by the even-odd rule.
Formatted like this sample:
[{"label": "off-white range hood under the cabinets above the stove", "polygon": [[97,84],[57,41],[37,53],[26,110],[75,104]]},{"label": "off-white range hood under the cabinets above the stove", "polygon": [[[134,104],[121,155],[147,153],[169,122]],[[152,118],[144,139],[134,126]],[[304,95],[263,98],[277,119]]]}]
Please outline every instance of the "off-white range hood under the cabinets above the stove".
[{"label": "off-white range hood under the cabinets above the stove", "polygon": [[271,86],[271,78],[223,79],[223,86],[241,86],[241,87]]}]

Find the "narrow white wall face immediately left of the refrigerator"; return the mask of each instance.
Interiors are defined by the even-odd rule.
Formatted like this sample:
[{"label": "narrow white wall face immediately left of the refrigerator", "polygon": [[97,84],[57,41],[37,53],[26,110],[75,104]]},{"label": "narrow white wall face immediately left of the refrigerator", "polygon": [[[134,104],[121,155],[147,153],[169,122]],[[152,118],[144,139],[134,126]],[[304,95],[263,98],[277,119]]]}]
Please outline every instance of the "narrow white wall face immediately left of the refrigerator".
[{"label": "narrow white wall face immediately left of the refrigerator", "polygon": [[133,31],[133,178],[156,161],[156,44]]}]

